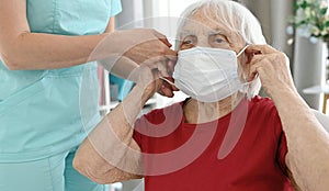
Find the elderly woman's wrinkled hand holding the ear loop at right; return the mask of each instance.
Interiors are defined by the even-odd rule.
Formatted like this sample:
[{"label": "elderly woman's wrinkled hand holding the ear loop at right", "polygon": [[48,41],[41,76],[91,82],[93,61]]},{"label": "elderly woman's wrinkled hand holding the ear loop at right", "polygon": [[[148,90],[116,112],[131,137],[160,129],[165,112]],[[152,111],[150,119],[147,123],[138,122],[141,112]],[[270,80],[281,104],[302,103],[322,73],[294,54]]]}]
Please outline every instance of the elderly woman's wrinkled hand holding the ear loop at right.
[{"label": "elderly woman's wrinkled hand holding the ear loop at right", "polygon": [[246,49],[249,57],[248,81],[259,76],[262,87],[270,97],[280,97],[282,91],[295,91],[287,56],[269,45],[250,45]]}]

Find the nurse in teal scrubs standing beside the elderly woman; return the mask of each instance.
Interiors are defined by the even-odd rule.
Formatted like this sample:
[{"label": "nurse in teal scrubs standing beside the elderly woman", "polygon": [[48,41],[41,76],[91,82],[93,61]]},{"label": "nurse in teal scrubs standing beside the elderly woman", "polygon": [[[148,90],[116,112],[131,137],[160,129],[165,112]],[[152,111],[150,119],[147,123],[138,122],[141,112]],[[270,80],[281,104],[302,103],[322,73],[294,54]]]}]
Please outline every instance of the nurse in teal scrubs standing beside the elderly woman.
[{"label": "nurse in teal scrubs standing beside the elderly woman", "polygon": [[[99,122],[98,100],[81,121],[81,81],[95,86],[94,61],[112,55],[136,65],[175,56],[154,30],[113,32],[121,11],[120,0],[0,1],[1,191],[106,189],[72,168],[76,148]],[[101,42],[105,48],[90,57]],[[120,64],[117,75],[128,74]]]}]

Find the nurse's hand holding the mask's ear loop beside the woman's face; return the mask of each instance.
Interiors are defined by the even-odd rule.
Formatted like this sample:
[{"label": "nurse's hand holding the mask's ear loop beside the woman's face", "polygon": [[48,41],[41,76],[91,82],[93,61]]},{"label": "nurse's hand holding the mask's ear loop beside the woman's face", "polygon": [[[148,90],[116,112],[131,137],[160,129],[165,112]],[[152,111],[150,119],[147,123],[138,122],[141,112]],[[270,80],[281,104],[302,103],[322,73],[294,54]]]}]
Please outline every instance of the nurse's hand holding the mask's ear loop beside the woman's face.
[{"label": "nurse's hand holding the mask's ear loop beside the woman's face", "polygon": [[156,88],[157,92],[164,97],[173,97],[173,91],[178,91],[178,88],[167,81],[173,82],[171,76],[178,52],[170,49],[172,45],[168,42],[167,37],[156,30],[136,29],[129,32],[133,33],[135,43],[132,44],[132,47],[124,56],[139,65],[146,64],[148,68],[157,70],[159,75],[155,76],[155,79],[159,77],[167,79],[164,81],[158,80],[159,87]]}]

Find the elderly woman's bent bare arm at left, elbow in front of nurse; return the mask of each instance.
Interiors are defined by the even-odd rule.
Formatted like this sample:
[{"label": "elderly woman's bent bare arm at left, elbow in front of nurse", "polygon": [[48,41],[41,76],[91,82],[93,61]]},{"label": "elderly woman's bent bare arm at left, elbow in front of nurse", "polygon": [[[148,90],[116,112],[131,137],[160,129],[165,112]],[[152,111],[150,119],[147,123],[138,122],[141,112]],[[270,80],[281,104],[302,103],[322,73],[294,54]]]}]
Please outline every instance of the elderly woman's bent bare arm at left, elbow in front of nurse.
[{"label": "elderly woman's bent bare arm at left, elbow in front of nurse", "polygon": [[73,167],[99,183],[143,177],[140,148],[133,139],[133,124],[150,96],[138,85],[111,111],[79,147]]}]

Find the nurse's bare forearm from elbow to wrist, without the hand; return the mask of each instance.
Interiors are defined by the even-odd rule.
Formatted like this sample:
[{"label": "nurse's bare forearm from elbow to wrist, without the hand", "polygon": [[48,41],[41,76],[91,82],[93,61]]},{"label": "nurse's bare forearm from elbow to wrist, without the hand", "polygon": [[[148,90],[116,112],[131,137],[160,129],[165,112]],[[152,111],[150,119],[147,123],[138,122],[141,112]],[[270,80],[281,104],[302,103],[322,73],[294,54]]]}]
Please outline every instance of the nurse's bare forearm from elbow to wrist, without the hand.
[{"label": "nurse's bare forearm from elbow to wrist, without the hand", "polygon": [[[110,33],[88,36],[64,36],[42,33],[23,33],[1,52],[4,64],[13,70],[55,69],[77,66],[87,61],[117,55],[117,38]],[[107,38],[112,45],[93,53]],[[93,54],[92,54],[93,53]],[[91,55],[92,54],[92,55]]]}]

